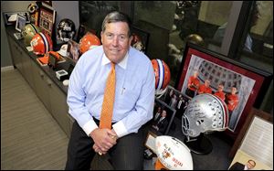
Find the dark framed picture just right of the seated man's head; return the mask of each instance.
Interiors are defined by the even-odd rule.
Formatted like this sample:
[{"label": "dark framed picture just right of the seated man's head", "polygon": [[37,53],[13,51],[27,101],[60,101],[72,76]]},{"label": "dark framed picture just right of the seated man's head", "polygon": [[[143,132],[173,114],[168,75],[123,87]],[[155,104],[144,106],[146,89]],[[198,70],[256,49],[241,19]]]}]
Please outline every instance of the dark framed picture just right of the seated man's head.
[{"label": "dark framed picture just right of the seated man's head", "polygon": [[132,48],[136,48],[143,53],[147,53],[147,46],[149,40],[149,33],[137,28],[132,27]]}]

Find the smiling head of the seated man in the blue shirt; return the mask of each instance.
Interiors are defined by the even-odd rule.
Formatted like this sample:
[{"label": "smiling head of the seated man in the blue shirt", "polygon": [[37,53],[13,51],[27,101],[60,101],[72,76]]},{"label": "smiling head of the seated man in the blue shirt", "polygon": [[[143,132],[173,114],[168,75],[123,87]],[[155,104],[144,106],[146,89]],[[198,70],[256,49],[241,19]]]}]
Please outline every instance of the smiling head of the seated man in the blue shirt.
[{"label": "smiling head of the seated man in the blue shirt", "polygon": [[107,58],[114,63],[119,63],[131,46],[131,19],[114,11],[105,17],[101,28],[100,37]]}]

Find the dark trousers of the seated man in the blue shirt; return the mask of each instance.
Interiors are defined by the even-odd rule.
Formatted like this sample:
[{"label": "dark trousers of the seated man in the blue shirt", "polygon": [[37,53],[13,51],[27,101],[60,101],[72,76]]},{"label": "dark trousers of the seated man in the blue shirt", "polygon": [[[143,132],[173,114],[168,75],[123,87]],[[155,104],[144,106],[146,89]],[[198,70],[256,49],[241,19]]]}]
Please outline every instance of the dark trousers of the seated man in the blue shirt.
[{"label": "dark trousers of the seated man in the blue shirt", "polygon": [[[116,170],[142,170],[145,129],[142,126],[137,134],[128,134],[117,140],[117,144],[108,151],[111,164]],[[90,169],[95,155],[94,142],[79,123],[74,122],[68,143],[68,160],[66,170]]]}]

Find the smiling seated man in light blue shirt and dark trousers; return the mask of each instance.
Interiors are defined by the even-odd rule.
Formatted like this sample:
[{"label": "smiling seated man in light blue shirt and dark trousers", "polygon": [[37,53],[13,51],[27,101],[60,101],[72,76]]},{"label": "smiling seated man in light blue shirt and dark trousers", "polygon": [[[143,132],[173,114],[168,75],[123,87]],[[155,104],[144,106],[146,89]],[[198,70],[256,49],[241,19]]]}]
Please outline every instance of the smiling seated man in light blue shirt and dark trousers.
[{"label": "smiling seated man in light blue shirt and dark trousers", "polygon": [[[151,60],[131,47],[131,28],[128,16],[111,12],[102,23],[102,46],[84,53],[72,71],[68,107],[76,121],[66,169],[90,169],[96,153],[108,153],[115,169],[142,169],[142,125],[153,118],[155,77]],[[113,63],[116,83],[112,125],[111,129],[99,128],[104,121],[102,103]]]}]

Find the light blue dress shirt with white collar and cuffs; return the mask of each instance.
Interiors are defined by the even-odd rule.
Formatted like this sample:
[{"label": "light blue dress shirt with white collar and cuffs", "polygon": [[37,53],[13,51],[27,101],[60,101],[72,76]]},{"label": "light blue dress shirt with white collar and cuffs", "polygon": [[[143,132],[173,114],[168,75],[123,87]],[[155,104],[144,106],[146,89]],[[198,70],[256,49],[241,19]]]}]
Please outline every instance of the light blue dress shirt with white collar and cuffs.
[{"label": "light blue dress shirt with white collar and cuffs", "polygon": [[[111,61],[102,46],[84,53],[69,78],[68,112],[86,134],[98,125]],[[129,48],[124,59],[115,65],[116,91],[112,128],[121,137],[137,133],[142,124],[153,118],[155,77],[153,65],[142,52]]]}]

